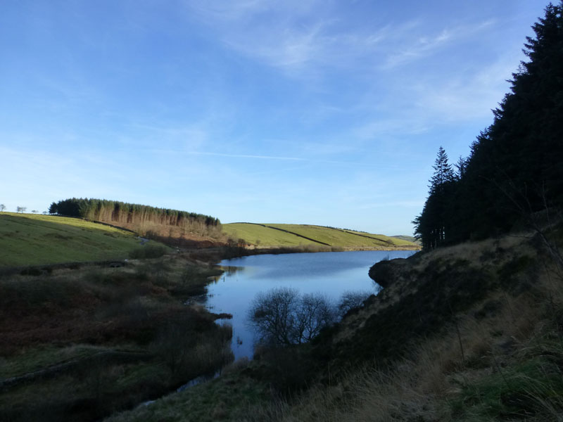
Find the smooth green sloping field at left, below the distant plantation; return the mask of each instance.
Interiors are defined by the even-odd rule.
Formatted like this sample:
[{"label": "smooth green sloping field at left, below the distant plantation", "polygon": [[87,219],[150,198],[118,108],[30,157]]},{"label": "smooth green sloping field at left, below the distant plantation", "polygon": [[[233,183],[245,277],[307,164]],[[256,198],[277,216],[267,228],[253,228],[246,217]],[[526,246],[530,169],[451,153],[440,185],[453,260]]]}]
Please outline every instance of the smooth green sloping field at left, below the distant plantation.
[{"label": "smooth green sloping field at left, below the distant plantation", "polygon": [[0,267],[123,259],[135,235],[82,219],[0,213]]}]

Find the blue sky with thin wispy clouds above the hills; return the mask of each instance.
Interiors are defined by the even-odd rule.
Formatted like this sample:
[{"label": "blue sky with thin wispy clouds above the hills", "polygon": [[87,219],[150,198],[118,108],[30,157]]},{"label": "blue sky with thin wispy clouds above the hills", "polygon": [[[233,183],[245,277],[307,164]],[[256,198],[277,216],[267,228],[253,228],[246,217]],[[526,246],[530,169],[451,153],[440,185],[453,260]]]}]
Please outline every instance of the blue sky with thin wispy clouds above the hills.
[{"label": "blue sky with thin wispy clouds above the hills", "polygon": [[547,3],[0,2],[0,203],[412,234]]}]

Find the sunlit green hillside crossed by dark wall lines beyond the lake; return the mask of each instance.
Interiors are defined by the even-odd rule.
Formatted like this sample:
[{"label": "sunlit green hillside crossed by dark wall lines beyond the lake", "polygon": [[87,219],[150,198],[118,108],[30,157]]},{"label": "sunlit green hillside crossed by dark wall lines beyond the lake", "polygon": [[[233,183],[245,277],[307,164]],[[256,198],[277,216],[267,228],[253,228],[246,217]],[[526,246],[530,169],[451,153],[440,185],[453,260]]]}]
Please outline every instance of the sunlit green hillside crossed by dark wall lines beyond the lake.
[{"label": "sunlit green hillside crossed by dark wall lines beyond the lake", "polygon": [[231,238],[242,238],[251,245],[265,248],[299,245],[325,245],[347,249],[418,248],[415,243],[382,234],[309,224],[231,223],[223,224],[223,231]]}]

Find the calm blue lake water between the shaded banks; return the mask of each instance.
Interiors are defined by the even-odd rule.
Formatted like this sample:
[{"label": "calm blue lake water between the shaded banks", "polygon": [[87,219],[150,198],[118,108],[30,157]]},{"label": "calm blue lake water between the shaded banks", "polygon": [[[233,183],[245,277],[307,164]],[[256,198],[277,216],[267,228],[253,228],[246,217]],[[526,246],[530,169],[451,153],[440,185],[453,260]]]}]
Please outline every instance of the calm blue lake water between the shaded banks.
[{"label": "calm blue lake water between the shaded banks", "polygon": [[412,250],[362,250],[352,252],[253,255],[223,260],[224,274],[208,286],[206,306],[233,318],[232,349],[235,359],[253,355],[253,331],[246,324],[248,307],[258,292],[276,287],[297,288],[301,293],[323,293],[338,301],[346,290],[375,292],[367,271],[375,262],[406,258]]}]

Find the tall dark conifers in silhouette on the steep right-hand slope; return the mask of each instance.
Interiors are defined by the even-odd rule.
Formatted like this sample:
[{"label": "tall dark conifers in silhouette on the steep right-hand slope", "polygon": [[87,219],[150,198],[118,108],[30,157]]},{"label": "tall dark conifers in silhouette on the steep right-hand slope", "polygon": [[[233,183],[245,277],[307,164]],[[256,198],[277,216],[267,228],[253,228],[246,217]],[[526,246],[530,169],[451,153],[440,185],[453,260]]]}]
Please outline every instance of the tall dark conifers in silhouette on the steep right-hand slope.
[{"label": "tall dark conifers in silhouette on the steep right-hand slope", "polygon": [[440,147],[415,224],[428,250],[486,238],[563,203],[563,1],[526,37],[529,58],[512,74],[493,124],[454,167]]}]

